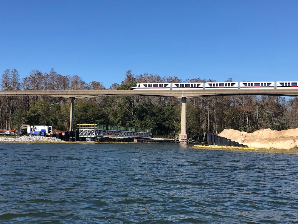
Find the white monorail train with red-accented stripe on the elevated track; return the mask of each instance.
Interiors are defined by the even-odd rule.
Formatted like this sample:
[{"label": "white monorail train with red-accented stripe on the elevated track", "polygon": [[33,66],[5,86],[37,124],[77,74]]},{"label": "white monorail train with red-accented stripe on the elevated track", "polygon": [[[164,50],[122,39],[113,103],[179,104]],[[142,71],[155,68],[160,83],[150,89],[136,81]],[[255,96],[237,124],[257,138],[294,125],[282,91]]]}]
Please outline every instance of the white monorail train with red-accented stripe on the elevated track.
[{"label": "white monorail train with red-accented stripe on the elevated track", "polygon": [[181,89],[287,89],[297,88],[294,82],[184,82],[184,83],[137,83],[131,90],[181,90]]}]

